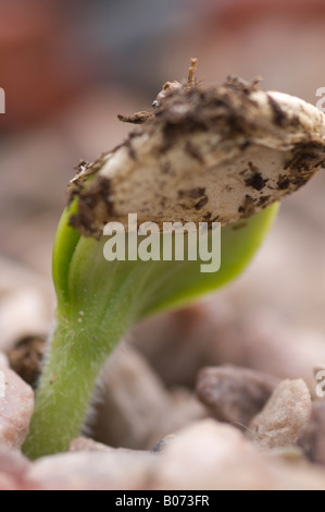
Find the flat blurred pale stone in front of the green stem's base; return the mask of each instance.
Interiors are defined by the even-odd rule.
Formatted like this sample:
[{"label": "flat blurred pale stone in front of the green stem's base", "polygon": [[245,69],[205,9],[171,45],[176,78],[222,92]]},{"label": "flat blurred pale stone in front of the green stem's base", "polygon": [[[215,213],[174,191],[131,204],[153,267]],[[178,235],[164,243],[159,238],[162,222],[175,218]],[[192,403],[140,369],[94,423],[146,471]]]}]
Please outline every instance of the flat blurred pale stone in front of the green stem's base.
[{"label": "flat blurred pale stone in front of the green stem's base", "polygon": [[154,458],[120,450],[70,452],[39,459],[28,476],[45,490],[146,489]]}]

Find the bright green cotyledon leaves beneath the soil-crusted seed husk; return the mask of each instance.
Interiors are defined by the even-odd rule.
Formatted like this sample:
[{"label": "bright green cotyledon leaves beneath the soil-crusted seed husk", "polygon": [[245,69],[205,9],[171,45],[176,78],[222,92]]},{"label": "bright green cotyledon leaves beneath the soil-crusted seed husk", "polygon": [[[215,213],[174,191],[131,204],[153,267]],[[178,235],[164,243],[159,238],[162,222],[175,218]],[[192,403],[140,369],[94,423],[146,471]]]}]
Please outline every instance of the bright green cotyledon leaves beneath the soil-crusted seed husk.
[{"label": "bright green cotyledon leaves beneath the soil-crusted seed husk", "polygon": [[[180,307],[200,295],[212,292],[236,278],[248,265],[266,235],[278,205],[260,211],[246,220],[225,225],[221,231],[221,268],[216,272],[202,272],[202,260],[182,261],[107,261],[103,256],[105,236],[100,240],[75,236],[74,228],[67,223],[68,215],[64,212],[63,223],[58,230],[53,254],[54,282],[59,303],[76,312],[96,312],[103,309],[127,279],[136,280],[139,276],[142,283],[138,287],[137,301],[134,304],[137,319],[152,313]],[[65,230],[65,231],[64,231]],[[161,245],[163,244],[163,241]],[[186,244],[185,244],[186,245]],[[62,258],[59,249],[70,249],[70,261]],[[57,260],[58,259],[58,260]],[[59,271],[60,270],[60,271]],[[116,293],[116,292],[115,292]],[[59,304],[60,305],[60,304]]]}]

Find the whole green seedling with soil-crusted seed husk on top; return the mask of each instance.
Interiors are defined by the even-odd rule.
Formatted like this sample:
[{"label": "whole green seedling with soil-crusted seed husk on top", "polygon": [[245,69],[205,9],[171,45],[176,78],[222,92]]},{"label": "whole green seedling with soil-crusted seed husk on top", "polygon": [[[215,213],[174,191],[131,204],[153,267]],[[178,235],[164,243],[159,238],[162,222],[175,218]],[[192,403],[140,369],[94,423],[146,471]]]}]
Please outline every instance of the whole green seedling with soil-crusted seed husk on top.
[{"label": "whole green seedling with soil-crusted seed husk on top", "polygon": [[[53,248],[55,328],[23,447],[32,459],[65,451],[79,435],[100,369],[127,330],[235,279],[278,200],[324,162],[317,109],[257,83],[197,84],[195,65],[186,84],[164,85],[151,112],[122,118],[136,130],[83,162],[70,184]],[[161,231],[164,222],[221,222],[220,270],[202,272],[189,258],[108,261],[104,225],[127,230],[128,214]]]}]

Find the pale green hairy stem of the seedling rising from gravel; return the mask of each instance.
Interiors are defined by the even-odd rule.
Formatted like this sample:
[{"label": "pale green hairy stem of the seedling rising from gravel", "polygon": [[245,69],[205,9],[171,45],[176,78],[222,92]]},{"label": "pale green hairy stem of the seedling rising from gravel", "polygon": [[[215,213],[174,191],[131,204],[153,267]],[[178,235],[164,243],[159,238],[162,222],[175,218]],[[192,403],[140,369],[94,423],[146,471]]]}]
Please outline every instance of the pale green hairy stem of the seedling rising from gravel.
[{"label": "pale green hairy stem of the seedling rising from gravel", "polygon": [[124,330],[112,318],[105,333],[110,343],[99,348],[97,336],[91,333],[97,329],[67,326],[59,319],[24,444],[30,459],[66,451],[79,435],[100,369]]}]

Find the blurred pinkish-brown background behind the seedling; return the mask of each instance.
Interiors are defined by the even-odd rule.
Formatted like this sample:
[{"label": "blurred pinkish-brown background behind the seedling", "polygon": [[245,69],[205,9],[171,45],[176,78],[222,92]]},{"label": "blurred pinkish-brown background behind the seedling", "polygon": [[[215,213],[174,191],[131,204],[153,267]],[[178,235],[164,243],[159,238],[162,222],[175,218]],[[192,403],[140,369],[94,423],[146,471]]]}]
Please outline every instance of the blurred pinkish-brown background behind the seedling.
[{"label": "blurred pinkish-brown background behind the seedling", "polygon": [[[315,105],[324,48],[323,0],[0,0],[0,348],[48,332],[66,184],[127,135],[118,113],[150,107],[191,57],[208,83],[262,76]],[[237,282],[138,328],[134,344],[166,386],[225,362],[311,381],[325,362],[324,194],[320,172],[284,202]]]}]

